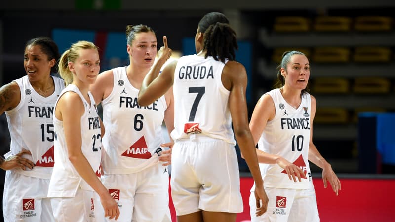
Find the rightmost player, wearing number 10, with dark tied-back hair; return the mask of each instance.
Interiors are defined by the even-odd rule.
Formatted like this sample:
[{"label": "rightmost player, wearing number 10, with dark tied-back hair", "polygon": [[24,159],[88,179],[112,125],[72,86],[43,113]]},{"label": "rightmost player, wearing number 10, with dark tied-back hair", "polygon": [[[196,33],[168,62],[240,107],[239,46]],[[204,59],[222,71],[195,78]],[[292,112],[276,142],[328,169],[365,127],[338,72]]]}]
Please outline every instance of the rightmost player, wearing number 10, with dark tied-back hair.
[{"label": "rightmost player, wearing number 10, with dark tied-back hair", "polygon": [[[324,186],[329,181],[338,195],[340,181],[313,144],[316,99],[306,89],[310,76],[307,57],[285,52],[278,66],[278,87],[265,93],[252,113],[250,129],[269,197],[268,212],[252,222],[318,222],[316,194],[309,162],[322,168]],[[292,163],[291,163],[292,162]],[[298,180],[296,179],[298,178]],[[251,189],[250,206],[254,205]]]}]

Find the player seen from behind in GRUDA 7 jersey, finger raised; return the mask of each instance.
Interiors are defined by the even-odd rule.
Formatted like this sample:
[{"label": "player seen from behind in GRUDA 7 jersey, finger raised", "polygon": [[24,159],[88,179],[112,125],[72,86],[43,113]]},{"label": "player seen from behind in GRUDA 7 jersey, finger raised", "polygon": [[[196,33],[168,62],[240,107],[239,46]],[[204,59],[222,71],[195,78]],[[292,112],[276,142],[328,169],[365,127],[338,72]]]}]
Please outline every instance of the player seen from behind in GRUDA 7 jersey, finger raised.
[{"label": "player seen from behind in GRUDA 7 jersey, finger raised", "polygon": [[247,75],[235,61],[237,40],[229,20],[206,14],[197,27],[197,54],[169,63],[158,75],[171,55],[166,37],[163,43],[138,100],[141,106],[151,104],[173,85],[171,190],[177,221],[232,222],[242,212],[234,132],[257,183],[256,214],[263,214],[268,200],[248,128]]}]

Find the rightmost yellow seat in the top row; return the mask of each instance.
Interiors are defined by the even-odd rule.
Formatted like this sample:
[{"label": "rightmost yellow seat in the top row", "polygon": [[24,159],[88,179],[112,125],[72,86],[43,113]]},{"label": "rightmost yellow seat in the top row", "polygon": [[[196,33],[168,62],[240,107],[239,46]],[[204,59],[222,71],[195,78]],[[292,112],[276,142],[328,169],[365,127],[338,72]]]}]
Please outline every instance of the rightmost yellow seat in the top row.
[{"label": "rightmost yellow seat in the top row", "polygon": [[388,16],[358,16],[354,29],[363,32],[391,31],[393,19]]}]

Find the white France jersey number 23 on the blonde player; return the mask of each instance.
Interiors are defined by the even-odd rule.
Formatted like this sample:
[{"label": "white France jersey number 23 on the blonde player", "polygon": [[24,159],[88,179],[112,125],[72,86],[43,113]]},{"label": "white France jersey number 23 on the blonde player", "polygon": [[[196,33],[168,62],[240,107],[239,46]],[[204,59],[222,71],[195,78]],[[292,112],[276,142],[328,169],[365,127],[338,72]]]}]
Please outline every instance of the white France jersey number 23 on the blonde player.
[{"label": "white France jersey number 23 on the blonde player", "polygon": [[[101,126],[95,100],[92,94],[88,92],[90,99],[90,103],[88,103],[79,88],[73,84],[68,85],[59,98],[68,91],[77,93],[84,104],[85,111],[81,116],[81,150],[92,169],[96,171],[100,167],[102,154]],[[54,115],[53,124],[57,135],[54,148],[56,162],[49,182],[48,197],[74,197],[79,186],[84,190],[93,191],[92,187],[81,178],[69,160],[63,121],[60,121]]]}]

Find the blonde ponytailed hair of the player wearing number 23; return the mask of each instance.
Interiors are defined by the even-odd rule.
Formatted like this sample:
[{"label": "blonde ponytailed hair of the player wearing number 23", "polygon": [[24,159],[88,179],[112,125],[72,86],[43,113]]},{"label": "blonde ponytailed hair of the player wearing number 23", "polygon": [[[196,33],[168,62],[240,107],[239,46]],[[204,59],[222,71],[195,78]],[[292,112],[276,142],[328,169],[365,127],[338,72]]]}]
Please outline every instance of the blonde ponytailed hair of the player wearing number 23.
[{"label": "blonde ponytailed hair of the player wearing number 23", "polygon": [[74,62],[79,58],[79,50],[81,49],[99,50],[99,47],[90,41],[78,41],[63,53],[59,59],[58,73],[65,81],[66,86],[73,82],[73,73],[69,70],[69,62]]}]

